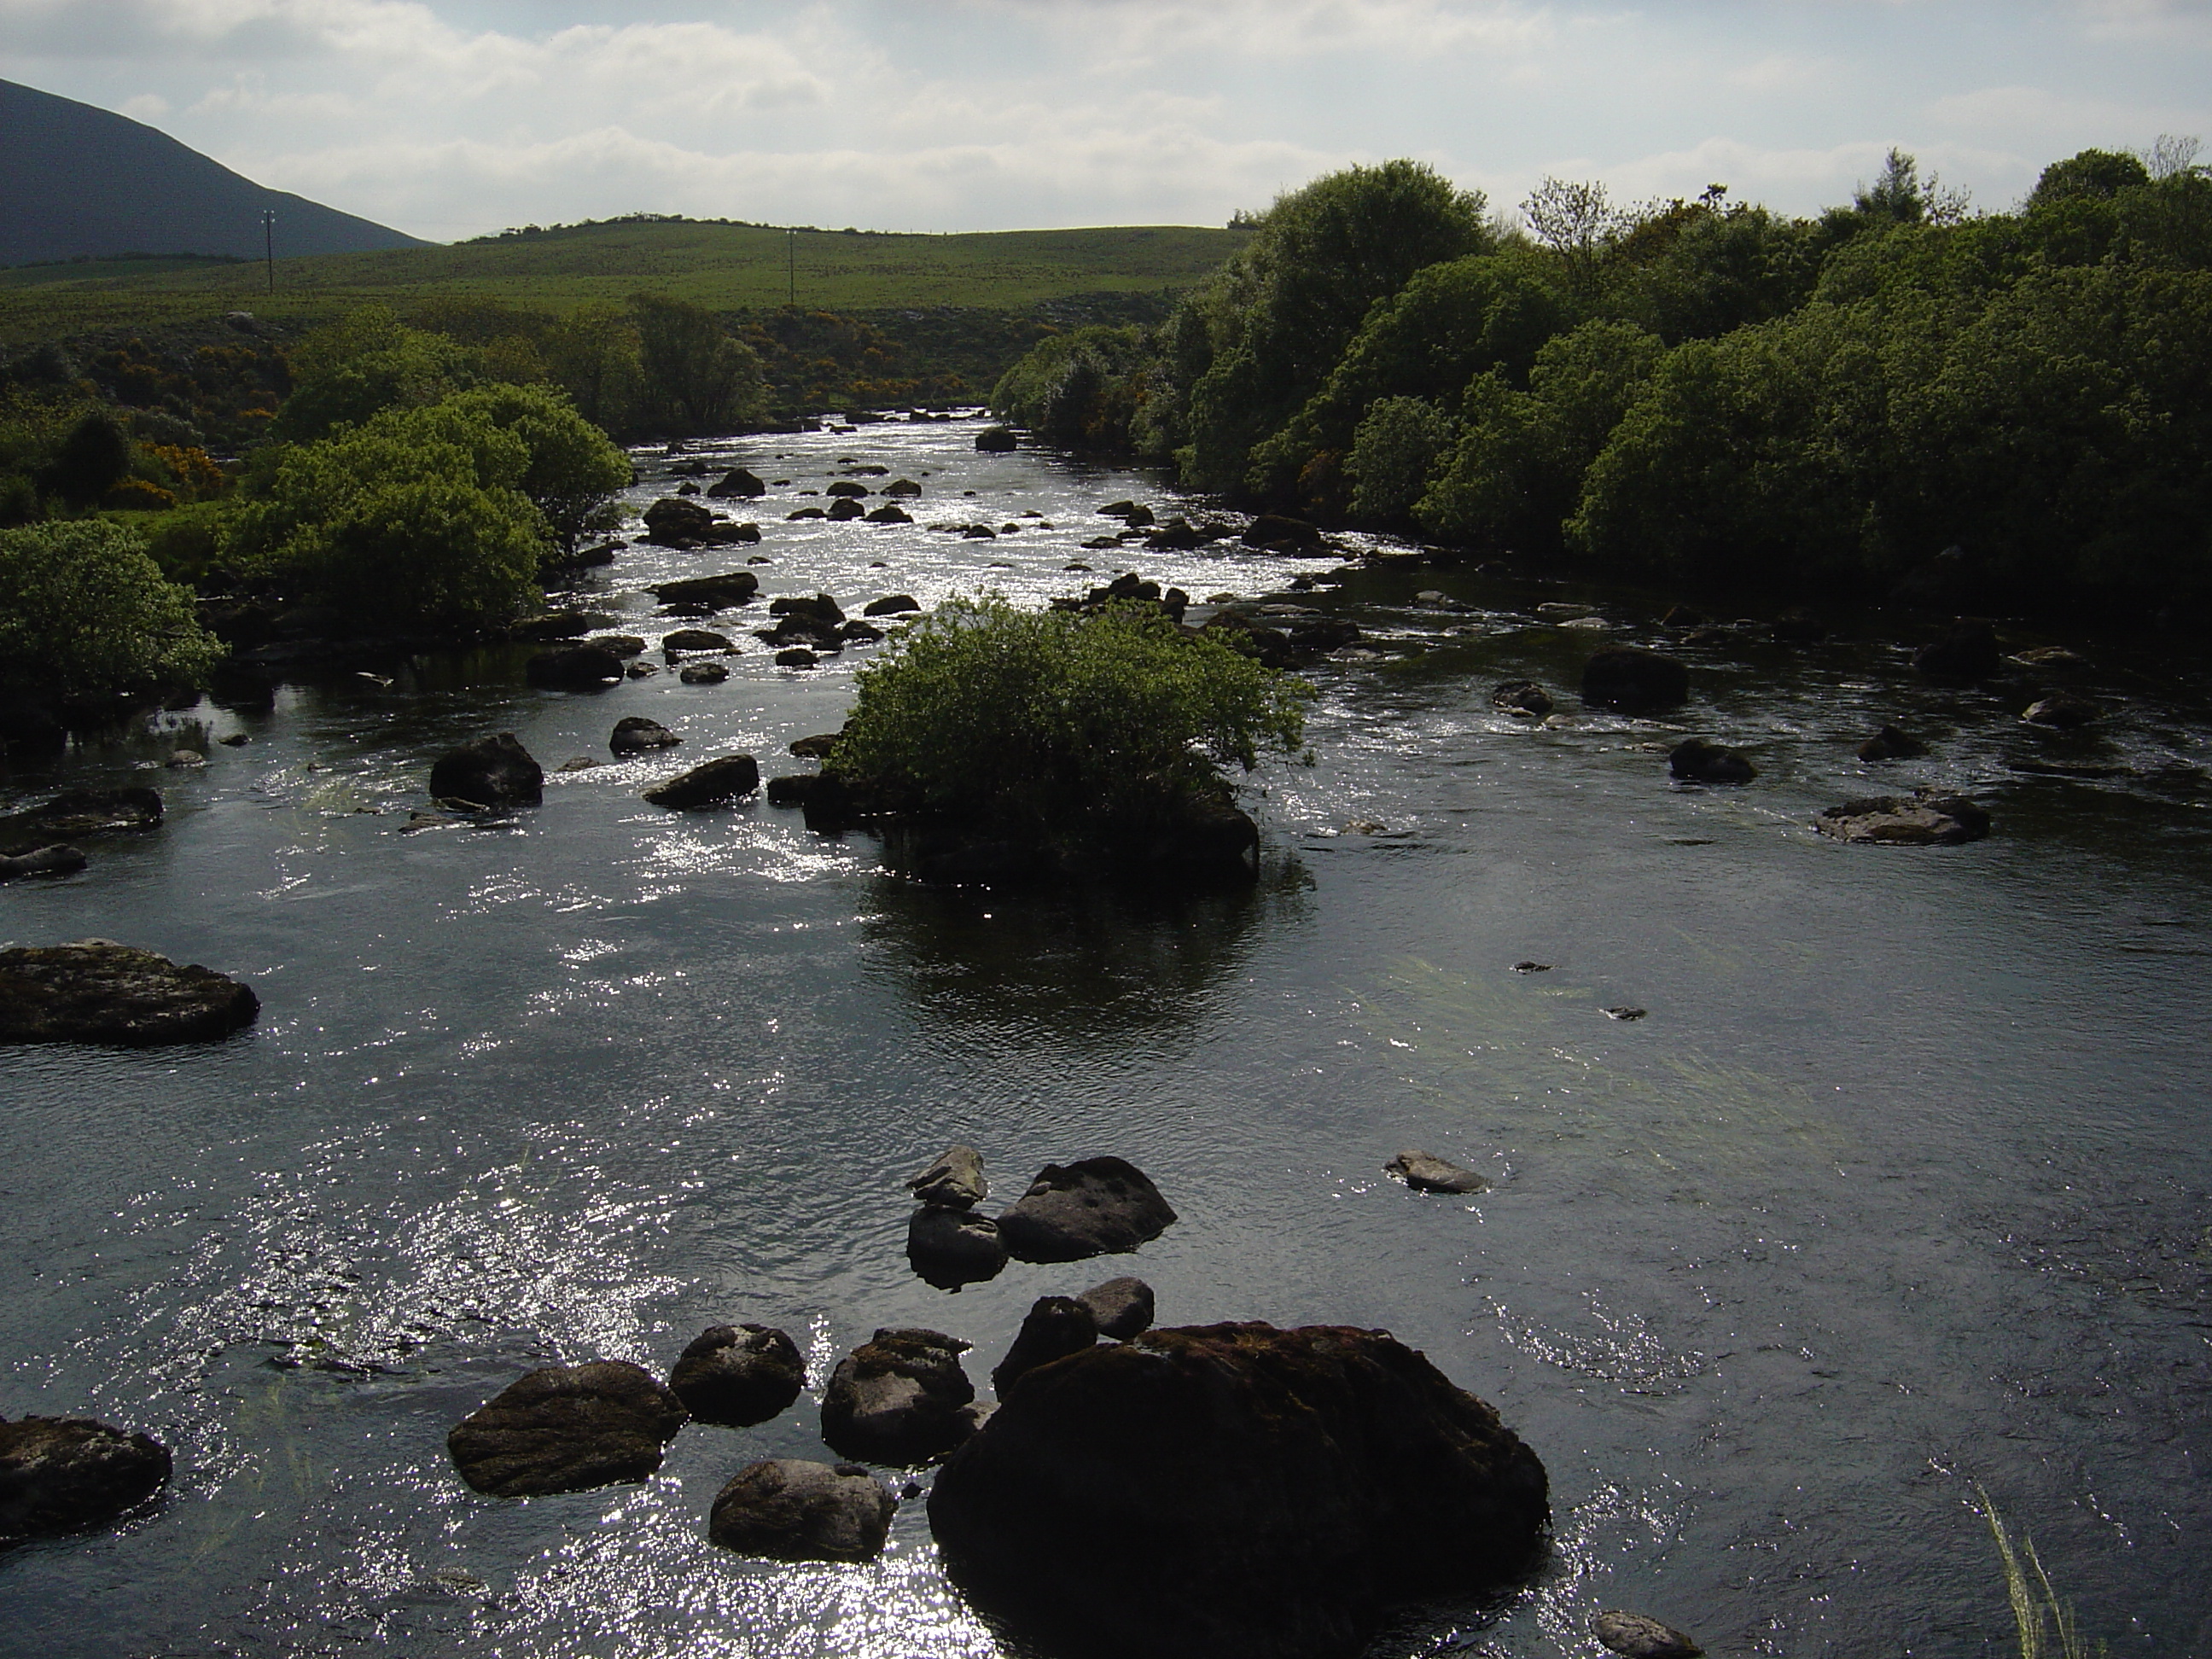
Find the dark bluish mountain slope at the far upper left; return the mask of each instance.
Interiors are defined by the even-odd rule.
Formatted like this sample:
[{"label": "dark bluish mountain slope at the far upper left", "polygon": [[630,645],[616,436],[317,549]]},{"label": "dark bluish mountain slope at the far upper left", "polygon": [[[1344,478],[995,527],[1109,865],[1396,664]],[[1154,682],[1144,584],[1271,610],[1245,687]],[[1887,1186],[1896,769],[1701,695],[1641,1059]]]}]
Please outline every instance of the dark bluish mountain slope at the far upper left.
[{"label": "dark bluish mountain slope at the far upper left", "polygon": [[0,265],[113,254],[276,257],[427,248],[387,226],[268,190],[126,115],[0,80]]}]

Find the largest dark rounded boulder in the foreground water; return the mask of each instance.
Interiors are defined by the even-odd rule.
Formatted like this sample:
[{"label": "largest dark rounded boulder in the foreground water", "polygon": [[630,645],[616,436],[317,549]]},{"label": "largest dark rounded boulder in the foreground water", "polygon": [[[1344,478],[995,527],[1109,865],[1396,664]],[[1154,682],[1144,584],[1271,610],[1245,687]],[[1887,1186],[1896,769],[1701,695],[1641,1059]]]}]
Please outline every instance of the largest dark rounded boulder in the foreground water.
[{"label": "largest dark rounded boulder in the foreground water", "polygon": [[1053,1659],[1356,1659],[1526,1573],[1544,1464],[1385,1332],[1210,1325],[1031,1371],[951,1455],[953,1582]]}]

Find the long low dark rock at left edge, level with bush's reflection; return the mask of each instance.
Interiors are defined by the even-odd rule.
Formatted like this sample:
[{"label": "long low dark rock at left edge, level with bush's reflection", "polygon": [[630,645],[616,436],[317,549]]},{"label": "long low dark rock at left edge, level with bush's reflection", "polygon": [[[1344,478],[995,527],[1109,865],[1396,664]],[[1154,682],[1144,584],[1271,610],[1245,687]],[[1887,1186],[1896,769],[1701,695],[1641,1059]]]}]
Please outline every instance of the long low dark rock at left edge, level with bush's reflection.
[{"label": "long low dark rock at left edge, level with bush's reflection", "polygon": [[215,1042],[259,1013],[237,980],[113,940],[0,951],[0,1042]]}]

